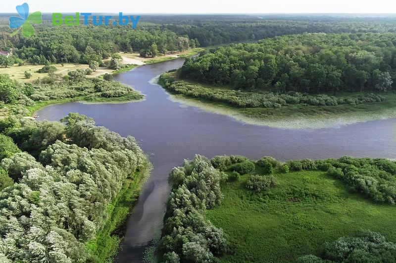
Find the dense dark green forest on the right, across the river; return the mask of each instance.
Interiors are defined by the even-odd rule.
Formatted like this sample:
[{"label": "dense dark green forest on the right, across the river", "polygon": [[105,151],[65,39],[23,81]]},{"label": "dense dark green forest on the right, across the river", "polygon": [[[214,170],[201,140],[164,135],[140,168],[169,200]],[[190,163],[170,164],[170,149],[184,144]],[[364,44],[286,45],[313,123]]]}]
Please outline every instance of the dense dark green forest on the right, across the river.
[{"label": "dense dark green forest on the right, across the river", "polygon": [[396,78],[396,34],[302,34],[231,44],[186,60],[179,75],[235,89],[386,91]]}]

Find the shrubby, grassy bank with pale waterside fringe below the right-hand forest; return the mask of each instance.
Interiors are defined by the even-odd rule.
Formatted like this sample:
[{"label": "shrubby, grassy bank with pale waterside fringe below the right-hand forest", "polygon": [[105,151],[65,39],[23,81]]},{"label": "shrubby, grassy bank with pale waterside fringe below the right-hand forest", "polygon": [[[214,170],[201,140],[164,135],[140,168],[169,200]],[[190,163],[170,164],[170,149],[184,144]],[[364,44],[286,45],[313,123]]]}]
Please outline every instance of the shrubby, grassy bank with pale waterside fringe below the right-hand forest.
[{"label": "shrubby, grassy bank with pale waterside fringe below the right-hand forest", "polygon": [[248,92],[181,80],[175,72],[161,75],[158,83],[176,101],[256,125],[320,128],[390,118],[396,113],[396,93],[393,91],[380,94]]}]

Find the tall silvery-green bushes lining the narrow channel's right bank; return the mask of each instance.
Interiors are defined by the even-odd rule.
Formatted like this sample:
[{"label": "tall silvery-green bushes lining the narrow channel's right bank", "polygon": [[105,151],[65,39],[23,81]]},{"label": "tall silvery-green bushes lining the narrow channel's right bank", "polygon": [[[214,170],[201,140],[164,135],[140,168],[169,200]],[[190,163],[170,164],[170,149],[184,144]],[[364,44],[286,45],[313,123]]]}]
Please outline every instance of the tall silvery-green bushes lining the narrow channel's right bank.
[{"label": "tall silvery-green bushes lining the narrow channel's right bank", "polygon": [[200,155],[172,170],[172,191],[159,246],[162,262],[208,263],[214,255],[227,251],[223,230],[203,216],[206,208],[220,202],[220,182],[226,179],[223,172]]}]

